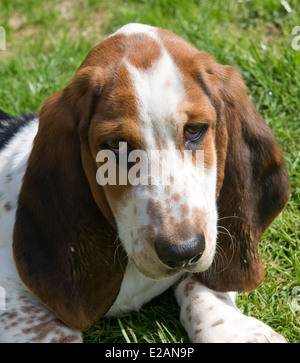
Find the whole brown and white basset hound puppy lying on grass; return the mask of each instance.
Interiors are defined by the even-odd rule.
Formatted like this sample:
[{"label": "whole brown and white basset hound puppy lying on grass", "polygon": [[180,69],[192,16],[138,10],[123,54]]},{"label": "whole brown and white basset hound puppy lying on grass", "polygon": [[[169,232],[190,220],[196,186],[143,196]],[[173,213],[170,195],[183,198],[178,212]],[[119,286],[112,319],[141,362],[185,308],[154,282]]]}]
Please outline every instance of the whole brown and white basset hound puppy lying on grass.
[{"label": "whole brown and white basset hound puppy lying on grass", "polygon": [[[289,197],[278,144],[235,68],[129,24],[38,117],[0,116],[0,341],[80,342],[99,318],[170,286],[193,342],[285,341],[235,305],[263,281],[257,245]],[[98,181],[102,151],[116,183]],[[143,181],[154,182],[141,182],[133,151],[151,154]]]}]

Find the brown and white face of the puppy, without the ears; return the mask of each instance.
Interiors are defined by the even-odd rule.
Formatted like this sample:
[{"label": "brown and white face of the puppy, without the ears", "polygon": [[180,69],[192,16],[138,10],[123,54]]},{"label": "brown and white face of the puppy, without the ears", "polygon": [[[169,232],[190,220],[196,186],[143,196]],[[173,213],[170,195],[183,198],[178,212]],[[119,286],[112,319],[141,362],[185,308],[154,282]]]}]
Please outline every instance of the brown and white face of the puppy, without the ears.
[{"label": "brown and white face of the puppy, without the ears", "polygon": [[106,40],[122,42],[127,52],[105,74],[89,128],[99,174],[108,166],[99,151],[117,160],[115,178],[98,187],[144,275],[204,271],[216,246],[216,111],[193,73],[191,46],[161,34],[185,46],[184,54],[172,54],[153,28],[128,30]]}]

